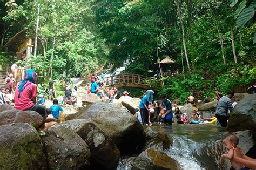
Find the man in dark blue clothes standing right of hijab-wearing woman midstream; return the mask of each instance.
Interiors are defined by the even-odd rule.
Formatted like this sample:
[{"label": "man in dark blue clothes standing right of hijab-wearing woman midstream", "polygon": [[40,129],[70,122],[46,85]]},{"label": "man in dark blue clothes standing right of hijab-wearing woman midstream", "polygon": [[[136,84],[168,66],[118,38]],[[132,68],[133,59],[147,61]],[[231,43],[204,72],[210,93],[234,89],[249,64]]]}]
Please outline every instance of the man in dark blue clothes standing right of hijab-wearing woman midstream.
[{"label": "man in dark blue clothes standing right of hijab-wearing woman midstream", "polygon": [[172,103],[170,100],[166,98],[164,94],[160,96],[160,99],[163,101],[163,105],[166,108],[164,114],[162,115],[162,118],[164,119],[164,123],[168,125],[172,125],[172,118],[173,118]]}]

